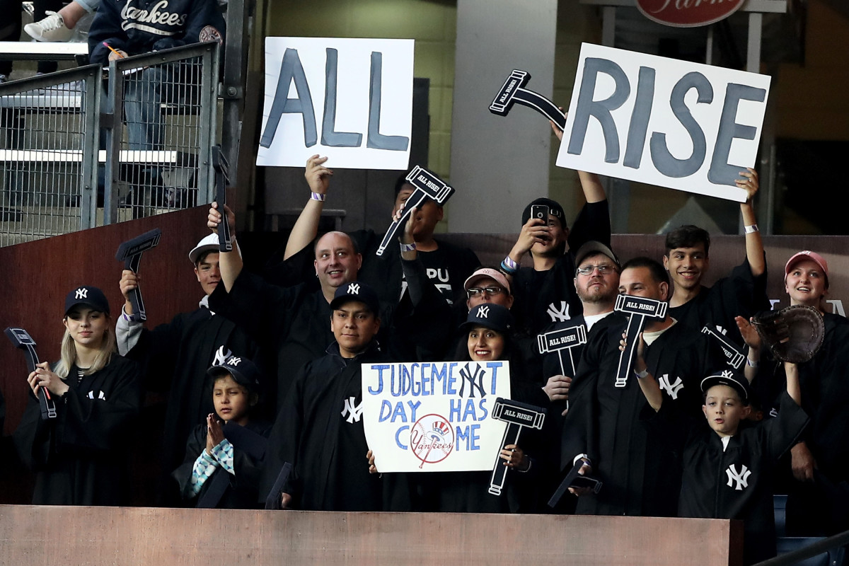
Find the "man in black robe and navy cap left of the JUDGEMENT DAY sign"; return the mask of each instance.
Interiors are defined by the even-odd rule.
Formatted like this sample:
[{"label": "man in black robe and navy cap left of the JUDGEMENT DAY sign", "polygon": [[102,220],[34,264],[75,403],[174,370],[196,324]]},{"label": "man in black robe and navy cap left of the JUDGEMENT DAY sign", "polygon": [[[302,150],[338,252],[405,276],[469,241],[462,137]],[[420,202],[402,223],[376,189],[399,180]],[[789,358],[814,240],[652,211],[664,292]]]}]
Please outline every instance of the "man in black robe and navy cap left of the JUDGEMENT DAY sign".
[{"label": "man in black robe and navy cap left of the JUDGEMENT DAY sign", "polygon": [[381,511],[383,485],[368,474],[363,432],[363,362],[383,361],[374,339],[380,302],[374,289],[351,282],[330,303],[335,342],[328,353],[301,369],[269,438],[265,493],[284,462],[293,466],[284,508],[318,511]]}]

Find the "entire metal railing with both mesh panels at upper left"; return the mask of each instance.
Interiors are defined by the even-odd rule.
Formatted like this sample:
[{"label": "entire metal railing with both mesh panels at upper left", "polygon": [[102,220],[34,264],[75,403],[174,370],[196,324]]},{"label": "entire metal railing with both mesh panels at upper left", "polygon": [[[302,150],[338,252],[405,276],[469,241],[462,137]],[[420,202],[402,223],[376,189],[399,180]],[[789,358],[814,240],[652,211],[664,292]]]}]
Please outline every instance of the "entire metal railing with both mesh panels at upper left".
[{"label": "entire metal railing with both mesh panels at upper left", "polygon": [[207,42],[0,85],[0,246],[211,202],[217,78]]}]

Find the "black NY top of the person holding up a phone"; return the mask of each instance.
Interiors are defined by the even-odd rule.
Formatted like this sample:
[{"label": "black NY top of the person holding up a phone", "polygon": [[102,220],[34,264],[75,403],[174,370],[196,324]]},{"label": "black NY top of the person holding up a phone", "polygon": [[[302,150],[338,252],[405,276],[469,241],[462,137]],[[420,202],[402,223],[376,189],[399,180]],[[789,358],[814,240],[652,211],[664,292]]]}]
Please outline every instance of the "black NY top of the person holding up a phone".
[{"label": "black NY top of the person holding up a phone", "polygon": [[575,252],[590,240],[610,246],[607,200],[584,205],[569,233],[569,251],[558,258],[554,267],[545,272],[521,267],[513,276],[511,311],[520,328],[527,328],[533,335],[552,322],[565,322],[582,314],[583,306],[575,290]]}]

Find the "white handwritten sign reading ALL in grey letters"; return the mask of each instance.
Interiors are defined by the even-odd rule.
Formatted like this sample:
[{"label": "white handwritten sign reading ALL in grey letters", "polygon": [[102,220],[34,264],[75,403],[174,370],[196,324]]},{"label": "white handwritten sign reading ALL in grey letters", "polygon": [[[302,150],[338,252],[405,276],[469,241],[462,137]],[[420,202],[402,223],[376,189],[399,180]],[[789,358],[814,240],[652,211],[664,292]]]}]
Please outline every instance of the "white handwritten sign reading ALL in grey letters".
[{"label": "white handwritten sign reading ALL in grey letters", "polygon": [[408,168],[413,40],[267,37],[256,165]]}]

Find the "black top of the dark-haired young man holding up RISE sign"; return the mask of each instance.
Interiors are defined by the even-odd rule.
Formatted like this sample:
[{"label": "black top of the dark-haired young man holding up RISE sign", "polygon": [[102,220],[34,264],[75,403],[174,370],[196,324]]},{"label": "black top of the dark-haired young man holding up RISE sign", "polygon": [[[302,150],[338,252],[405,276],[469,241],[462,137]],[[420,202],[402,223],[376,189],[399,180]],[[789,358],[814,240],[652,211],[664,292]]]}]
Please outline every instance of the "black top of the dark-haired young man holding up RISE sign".
[{"label": "black top of the dark-haired young man holding up RISE sign", "polygon": [[[702,285],[699,294],[683,305],[671,307],[668,314],[696,332],[701,332],[705,327],[710,328],[745,356],[745,344],[734,317],[744,317],[748,320],[757,312],[769,311],[770,308],[767,298],[767,270],[755,276],[751,272],[749,261],[744,260],[734,267],[729,277],[722,277],[713,287]],[[711,346],[722,349],[720,341],[713,336]],[[742,363],[743,360],[739,361]]]}]

